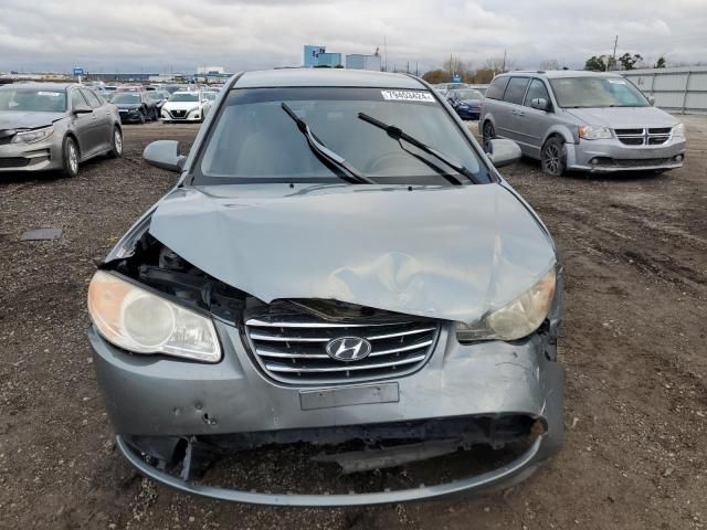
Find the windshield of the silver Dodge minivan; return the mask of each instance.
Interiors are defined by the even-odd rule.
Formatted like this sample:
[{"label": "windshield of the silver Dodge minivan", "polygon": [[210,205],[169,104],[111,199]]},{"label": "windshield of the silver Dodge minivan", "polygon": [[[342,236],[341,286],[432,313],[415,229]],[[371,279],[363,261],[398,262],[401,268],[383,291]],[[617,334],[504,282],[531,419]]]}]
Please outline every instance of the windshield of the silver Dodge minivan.
[{"label": "windshield of the silver Dodge minivan", "polygon": [[563,108],[647,107],[651,104],[631,82],[621,77],[559,77],[550,80]]}]

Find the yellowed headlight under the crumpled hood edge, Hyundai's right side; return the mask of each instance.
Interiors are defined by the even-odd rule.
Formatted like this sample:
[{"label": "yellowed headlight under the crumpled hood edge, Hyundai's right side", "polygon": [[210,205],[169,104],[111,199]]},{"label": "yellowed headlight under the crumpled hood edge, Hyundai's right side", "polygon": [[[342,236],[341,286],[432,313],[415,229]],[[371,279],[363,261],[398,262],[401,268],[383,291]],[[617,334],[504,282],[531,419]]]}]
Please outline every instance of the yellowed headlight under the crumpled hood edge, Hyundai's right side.
[{"label": "yellowed headlight under the crumpled hood edge, Hyundai's right side", "polygon": [[556,273],[550,269],[537,284],[505,306],[486,314],[477,322],[456,322],[460,342],[472,340],[516,340],[538,329],[548,316],[555,296]]}]

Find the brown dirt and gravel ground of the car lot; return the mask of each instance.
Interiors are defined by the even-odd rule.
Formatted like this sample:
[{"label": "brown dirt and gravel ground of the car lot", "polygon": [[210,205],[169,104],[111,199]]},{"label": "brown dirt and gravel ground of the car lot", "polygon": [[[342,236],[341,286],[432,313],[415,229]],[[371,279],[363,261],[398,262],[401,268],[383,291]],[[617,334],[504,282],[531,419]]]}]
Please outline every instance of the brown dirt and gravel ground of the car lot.
[{"label": "brown dirt and gravel ground of the car lot", "polygon": [[[706,528],[707,117],[684,118],[677,171],[552,179],[529,160],[502,170],[566,267],[568,436],[527,481],[462,501],[272,509],[141,479],[115,451],[96,388],[86,287],[94,262],[176,180],[144,163],[143,148],[188,144],[196,127],[126,126],[125,158],[73,180],[0,177],[0,528]],[[42,226],[63,235],[19,241]]]}]

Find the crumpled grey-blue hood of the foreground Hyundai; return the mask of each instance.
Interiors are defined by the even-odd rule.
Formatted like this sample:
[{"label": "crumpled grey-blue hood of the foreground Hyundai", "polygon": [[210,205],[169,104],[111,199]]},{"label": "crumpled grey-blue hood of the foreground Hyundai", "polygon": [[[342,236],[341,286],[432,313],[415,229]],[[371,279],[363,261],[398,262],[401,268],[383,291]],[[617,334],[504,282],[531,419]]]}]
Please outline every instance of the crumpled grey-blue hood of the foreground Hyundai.
[{"label": "crumpled grey-blue hood of the foreground Hyundai", "polygon": [[176,189],[149,232],[266,303],[324,298],[473,322],[555,264],[549,236],[499,184]]}]

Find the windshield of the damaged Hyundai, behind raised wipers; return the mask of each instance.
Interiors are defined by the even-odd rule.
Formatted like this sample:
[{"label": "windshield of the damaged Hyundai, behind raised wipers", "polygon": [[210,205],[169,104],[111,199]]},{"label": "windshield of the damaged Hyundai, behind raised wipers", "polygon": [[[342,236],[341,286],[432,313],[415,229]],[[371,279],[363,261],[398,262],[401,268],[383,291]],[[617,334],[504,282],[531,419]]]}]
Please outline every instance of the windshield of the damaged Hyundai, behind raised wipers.
[{"label": "windshield of the damaged Hyundai, behind raised wipers", "polygon": [[[312,87],[231,91],[196,163],[194,183],[340,181],[313,152],[283,103],[321,144],[377,183],[449,184],[441,173],[458,173],[359,113],[401,128],[478,181],[490,181],[471,142],[429,92]],[[458,180],[471,183],[464,176]]]}]

